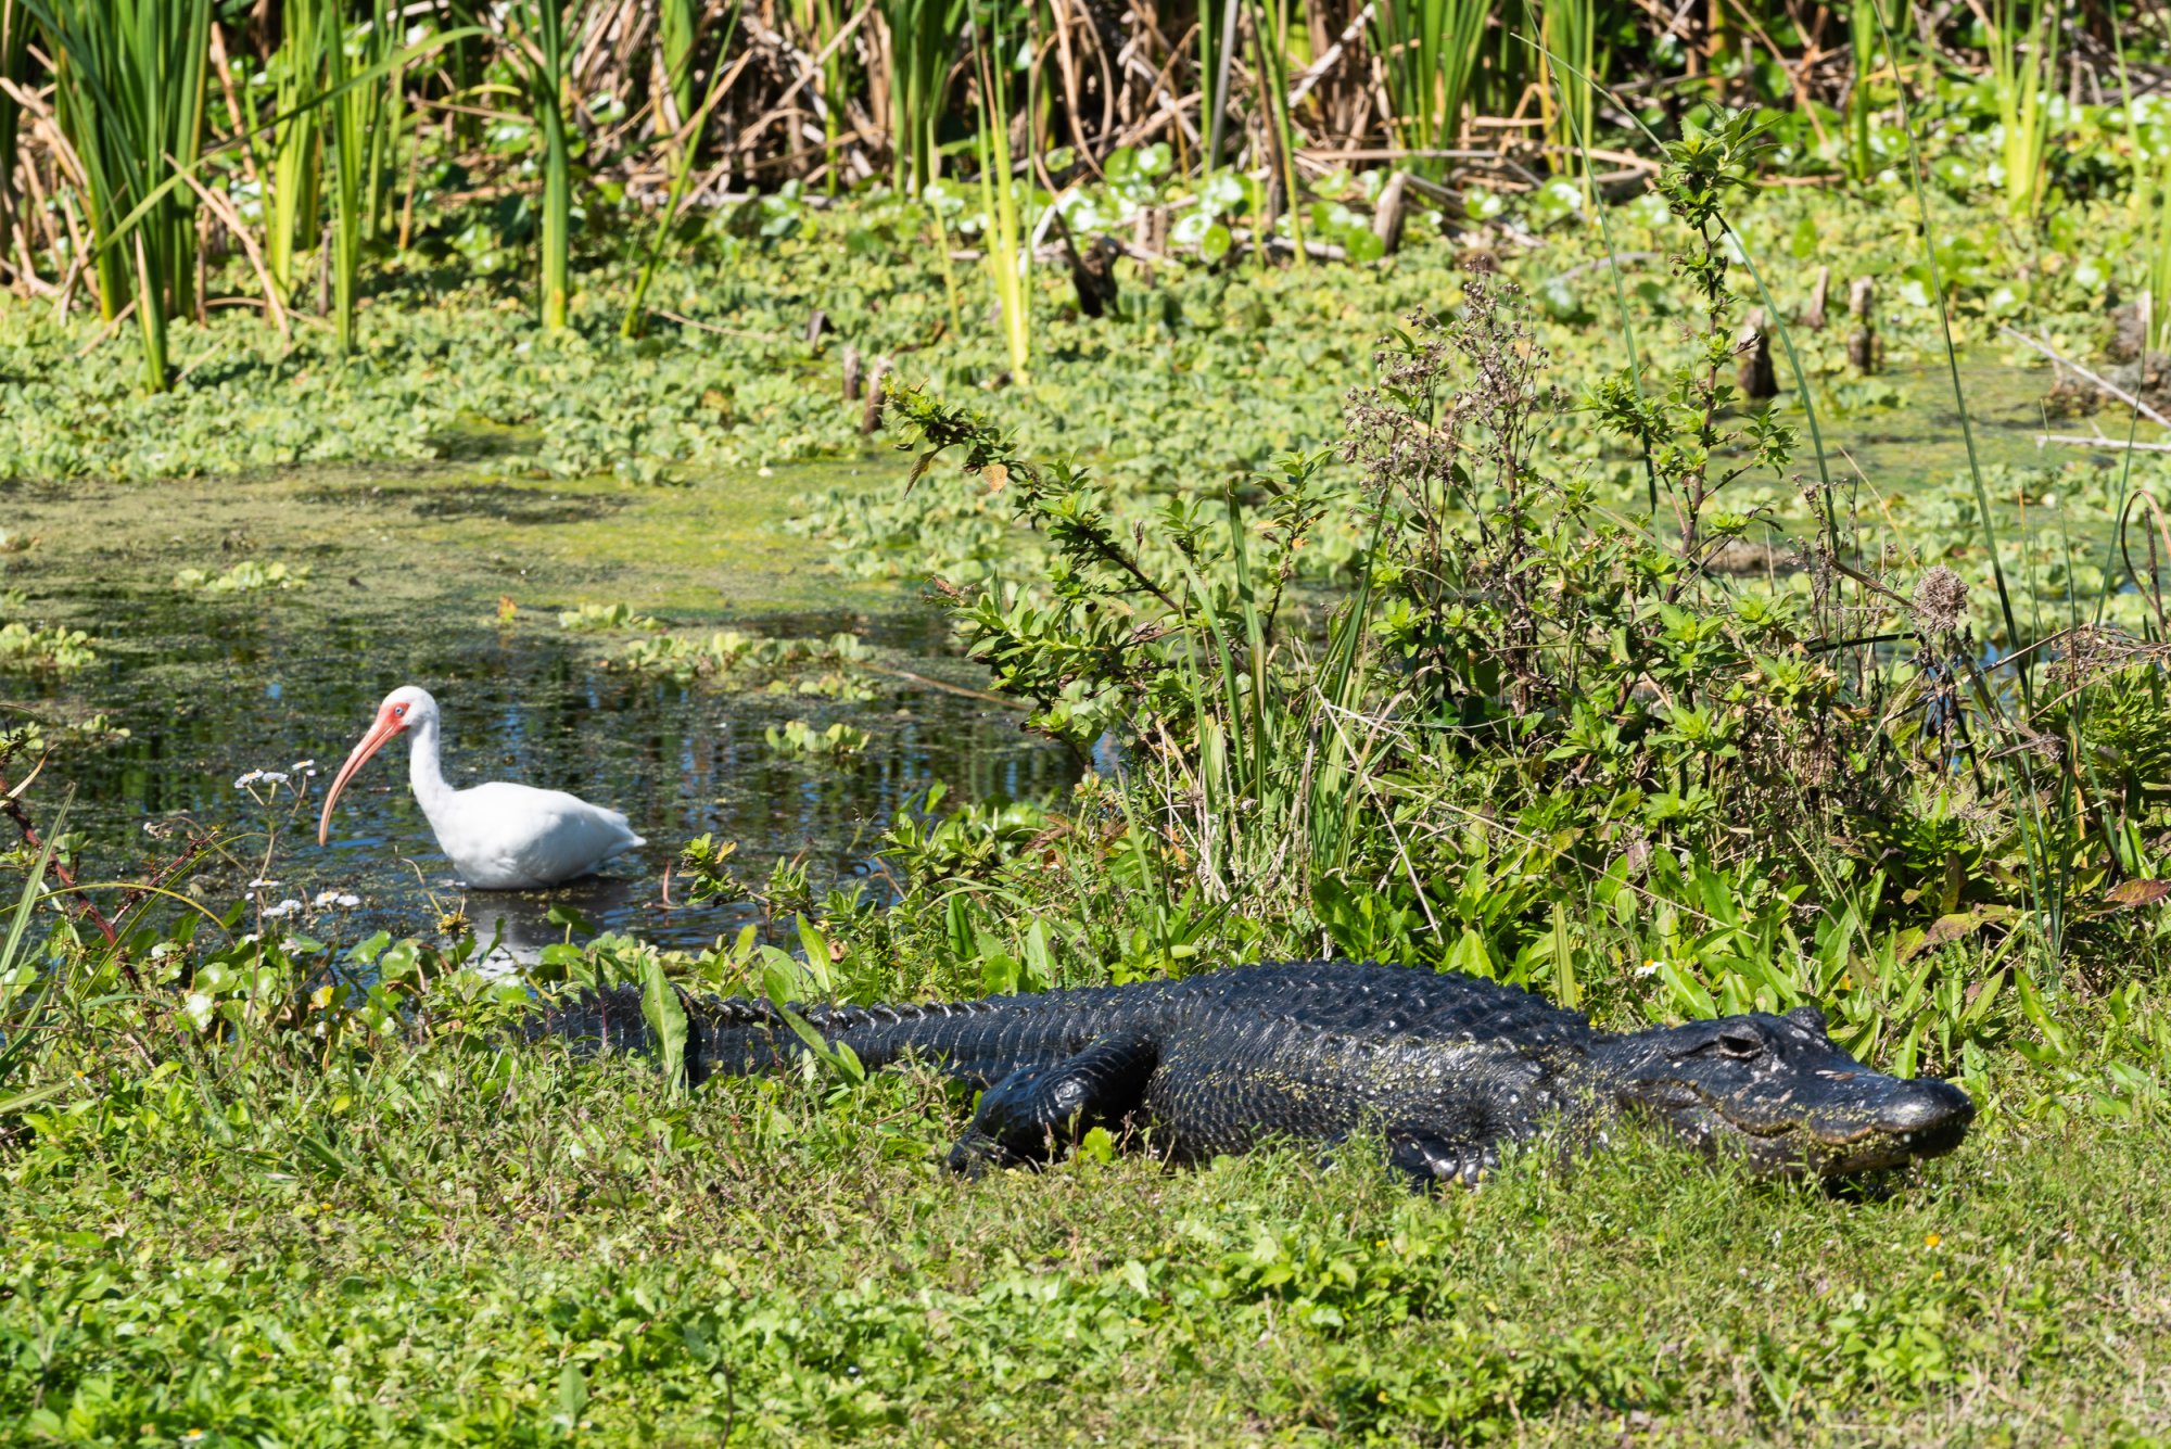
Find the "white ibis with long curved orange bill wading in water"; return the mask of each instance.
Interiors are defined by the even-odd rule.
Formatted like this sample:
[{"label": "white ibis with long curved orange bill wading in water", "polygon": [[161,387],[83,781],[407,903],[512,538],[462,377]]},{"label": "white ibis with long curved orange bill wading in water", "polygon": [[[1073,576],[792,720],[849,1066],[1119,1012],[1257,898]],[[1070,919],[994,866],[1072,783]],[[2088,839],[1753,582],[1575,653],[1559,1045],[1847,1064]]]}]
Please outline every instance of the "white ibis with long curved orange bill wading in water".
[{"label": "white ibis with long curved orange bill wading in water", "polygon": [[319,846],[332,829],[339,792],[363,761],[402,733],[412,735],[408,785],[415,790],[415,803],[430,818],[436,848],[475,889],[523,892],[558,885],[588,874],[621,850],[647,844],[619,811],[588,805],[562,790],[499,781],[454,790],[436,764],[436,701],[428,690],[404,685],[384,696],[376,724],[347,755],[347,764],[339,766],[339,777],[323,796],[323,816],[317,820]]}]

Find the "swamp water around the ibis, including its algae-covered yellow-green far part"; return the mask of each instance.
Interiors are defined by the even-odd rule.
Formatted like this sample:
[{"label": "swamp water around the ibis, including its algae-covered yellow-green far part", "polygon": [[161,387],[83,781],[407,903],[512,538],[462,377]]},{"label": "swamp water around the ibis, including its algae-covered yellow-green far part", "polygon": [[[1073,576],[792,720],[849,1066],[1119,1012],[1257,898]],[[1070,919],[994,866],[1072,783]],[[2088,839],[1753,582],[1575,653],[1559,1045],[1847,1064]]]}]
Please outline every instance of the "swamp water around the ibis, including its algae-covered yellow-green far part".
[{"label": "swamp water around the ibis, including its algae-covered yellow-green far part", "polygon": [[[384,928],[430,935],[465,909],[482,939],[504,935],[512,961],[564,939],[567,905],[597,928],[699,948],[751,920],[747,905],[664,905],[664,870],[701,833],[736,839],[734,868],[766,876],[799,861],[821,892],[855,876],[888,892],[873,852],[890,816],[934,781],[953,798],[1044,796],[1077,777],[1070,755],[1018,729],[1018,714],[936,688],[866,675],[877,698],[827,698],[682,685],[606,668],[630,633],[575,633],[558,612],[630,603],[675,631],[719,627],[769,638],[855,633],[884,662],[977,685],[949,655],[940,618],[910,590],[847,584],[810,544],[764,529],[801,488],[849,469],[788,471],[693,488],[610,482],[471,486],[441,471],[343,471],[261,482],[158,486],[17,486],[13,516],[37,542],[13,555],[7,586],[28,614],[98,636],[98,664],[50,685],[7,681],[39,711],[102,711],[126,740],[69,744],[33,800],[46,822],[74,785],[67,831],[87,837],[78,879],[137,876],[172,859],[187,822],[221,824],[226,857],[198,872],[206,905],[276,881],[263,905],[358,907],[304,915],[304,931],[352,941]],[[873,475],[873,469],[868,469]],[[293,590],[204,594],[174,575],[234,562],[308,566]],[[499,620],[510,599],[510,620]],[[569,790],[625,811],[647,846],[601,876],[554,892],[462,892],[406,785],[395,740],[347,785],[330,846],[317,807],[399,683],[432,690],[445,711],[445,774]],[[788,757],[769,727],[847,720],[871,733],[855,759]],[[237,787],[247,770],[315,761],[306,800],[265,809]],[[17,766],[17,772],[26,766]],[[265,865],[265,829],[278,829]],[[247,926],[243,926],[247,928]]]}]

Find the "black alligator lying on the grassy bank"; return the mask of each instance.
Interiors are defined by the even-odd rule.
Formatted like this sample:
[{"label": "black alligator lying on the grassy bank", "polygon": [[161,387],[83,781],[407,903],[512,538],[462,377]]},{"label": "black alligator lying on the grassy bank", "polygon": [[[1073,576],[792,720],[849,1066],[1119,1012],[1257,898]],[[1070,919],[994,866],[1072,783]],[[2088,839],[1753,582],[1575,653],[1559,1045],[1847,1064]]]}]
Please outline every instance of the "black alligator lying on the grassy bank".
[{"label": "black alligator lying on the grassy bank", "polygon": [[[805,1050],[764,1000],[682,1000],[693,1080]],[[1637,1113],[1759,1176],[1843,1178],[1952,1152],[1976,1115],[1952,1082],[1848,1056],[1815,1006],[1615,1035],[1518,987],[1346,961],[792,1011],[868,1067],[921,1056],[981,1087],[949,1158],[968,1174],[1131,1124],[1185,1161],[1370,1130],[1415,1184],[1476,1182],[1548,1124],[1602,1143],[1611,1117]],[[562,998],[543,1030],[649,1046],[632,987]]]}]

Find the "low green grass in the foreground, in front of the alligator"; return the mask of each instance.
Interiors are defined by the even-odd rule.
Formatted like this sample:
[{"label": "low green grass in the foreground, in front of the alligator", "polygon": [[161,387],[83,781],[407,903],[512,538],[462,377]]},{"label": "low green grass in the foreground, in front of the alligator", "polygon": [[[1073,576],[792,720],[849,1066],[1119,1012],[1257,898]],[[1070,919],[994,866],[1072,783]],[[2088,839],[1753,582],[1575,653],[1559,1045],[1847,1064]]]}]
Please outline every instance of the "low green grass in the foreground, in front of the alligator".
[{"label": "low green grass in the foreground, in front of the alligator", "polygon": [[938,1167],[960,1100],[897,1074],[673,1102],[640,1063],[547,1046],[395,1046],[356,1076],[206,1065],[115,1072],[7,1161],[9,1438],[2171,1427],[2145,1369],[2171,1354],[2162,1126],[1993,1121],[1884,1200],[1650,1145],[1426,1200],[1303,1154],[960,1182]]}]

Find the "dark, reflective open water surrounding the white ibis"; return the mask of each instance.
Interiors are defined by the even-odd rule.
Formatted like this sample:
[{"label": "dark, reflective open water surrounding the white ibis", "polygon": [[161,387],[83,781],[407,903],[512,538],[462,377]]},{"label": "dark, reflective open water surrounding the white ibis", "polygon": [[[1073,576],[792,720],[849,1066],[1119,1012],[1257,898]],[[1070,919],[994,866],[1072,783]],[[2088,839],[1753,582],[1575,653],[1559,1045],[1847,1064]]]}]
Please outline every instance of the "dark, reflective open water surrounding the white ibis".
[{"label": "dark, reflective open water surrounding the white ibis", "polygon": [[[725,694],[610,672],[591,638],[536,629],[339,620],[323,629],[161,610],[156,633],[139,631],[126,657],[102,662],[102,679],[74,690],[126,724],[130,738],[74,757],[69,829],[93,837],[93,868],[130,874],[172,855],[158,835],[176,818],[224,822],[232,831],[278,822],[269,863],[276,887],[261,898],[310,902],[347,892],[360,907],[334,909],[317,926],[343,937],[378,926],[428,933],[441,909],[465,898],[478,933],[502,918],[508,946],[525,952],[562,928],[554,902],[577,907],[597,926],[636,931],[673,946],[703,946],[747,920],[747,907],[662,905],[662,874],[677,848],[703,831],[740,842],[738,865],[760,879],[777,857],[803,859],[816,887],[866,876],[877,835],[907,798],[944,781],[960,798],[1038,796],[1075,779],[1068,755],[1018,731],[1014,711],[931,690],[836,707],[771,694]],[[195,614],[193,610],[189,614]],[[855,629],[868,642],[936,653],[940,627],[925,616],[769,618],[779,636]],[[940,668],[929,662],[923,668]],[[951,666],[955,668],[955,666]],[[601,876],[556,892],[462,892],[408,794],[406,742],[395,740],[341,794],[326,848],[315,822],[321,792],[399,683],[430,688],[445,714],[445,774],[456,787],[488,779],[569,790],[623,809],[647,846]],[[845,764],[792,761],[762,738],[790,718],[847,718],[873,731],[864,757]],[[234,785],[247,770],[293,772],[315,761],[308,796],[263,809]],[[300,777],[297,777],[300,779]],[[265,842],[234,839],[234,861],[206,872],[208,905],[258,879]],[[884,889],[881,879],[871,881]],[[323,935],[321,928],[313,928]]]}]

